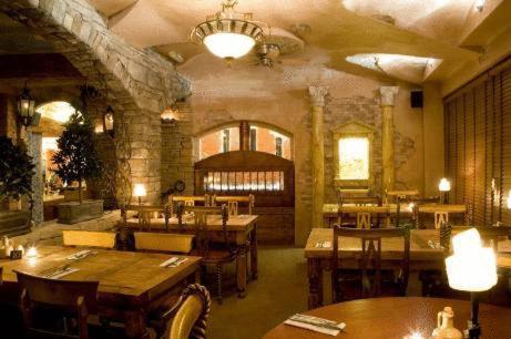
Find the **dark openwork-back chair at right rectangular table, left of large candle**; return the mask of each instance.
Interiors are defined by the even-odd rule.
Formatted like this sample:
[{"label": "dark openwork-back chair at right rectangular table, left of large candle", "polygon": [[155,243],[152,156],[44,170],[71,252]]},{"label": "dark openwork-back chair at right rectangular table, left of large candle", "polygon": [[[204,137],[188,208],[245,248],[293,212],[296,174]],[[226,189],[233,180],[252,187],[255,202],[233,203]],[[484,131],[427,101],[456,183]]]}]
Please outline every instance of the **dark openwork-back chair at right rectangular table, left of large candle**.
[{"label": "dark openwork-back chair at right rectangular table, left of large candle", "polygon": [[[343,259],[339,256],[339,237],[358,238],[361,242],[361,253],[359,268],[357,271],[344,270]],[[402,259],[392,268],[385,271],[381,263],[381,242],[387,238],[402,238],[403,250]],[[408,287],[409,264],[410,263],[410,233],[405,228],[386,229],[352,229],[344,228],[339,225],[334,227],[334,255],[331,259],[331,278],[334,302],[346,299],[341,289],[343,284],[355,286],[352,291],[361,298],[379,297],[388,295],[405,296]],[[399,267],[398,277],[394,275],[394,269]],[[357,286],[359,290],[357,291]]]}]

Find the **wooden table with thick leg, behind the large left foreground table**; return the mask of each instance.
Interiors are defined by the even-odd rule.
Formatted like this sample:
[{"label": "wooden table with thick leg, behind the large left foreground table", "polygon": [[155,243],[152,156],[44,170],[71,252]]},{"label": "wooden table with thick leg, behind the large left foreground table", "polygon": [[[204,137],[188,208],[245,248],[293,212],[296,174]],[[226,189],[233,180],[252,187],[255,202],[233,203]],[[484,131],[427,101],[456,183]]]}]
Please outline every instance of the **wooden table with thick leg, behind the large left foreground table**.
[{"label": "wooden table with thick leg, behind the large left foreground table", "polygon": [[[237,275],[237,292],[239,298],[246,296],[247,286],[247,251],[249,247],[251,251],[251,276],[253,279],[257,279],[257,215],[237,215],[229,216],[227,220],[227,232],[234,237],[237,246],[236,257],[236,275]],[[122,222],[121,222],[122,223]],[[186,233],[194,233],[193,218],[183,218]],[[140,227],[139,219],[129,218],[127,225],[134,228]],[[216,236],[219,240],[224,239],[222,234],[222,217],[219,215],[209,215],[207,217],[207,228]],[[165,230],[165,220],[163,218],[151,219],[150,230]],[[168,219],[168,230],[180,230],[176,217]],[[247,246],[247,244],[249,244]]]}]

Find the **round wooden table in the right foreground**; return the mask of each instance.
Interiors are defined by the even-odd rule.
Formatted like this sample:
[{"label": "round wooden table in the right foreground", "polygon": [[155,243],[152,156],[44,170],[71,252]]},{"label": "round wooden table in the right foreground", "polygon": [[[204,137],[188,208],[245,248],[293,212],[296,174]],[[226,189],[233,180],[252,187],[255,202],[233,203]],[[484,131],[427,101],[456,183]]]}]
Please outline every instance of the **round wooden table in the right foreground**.
[{"label": "round wooden table in the right foreground", "polygon": [[[443,307],[454,310],[454,326],[463,331],[470,318],[470,301],[440,298],[376,298],[335,304],[304,312],[346,323],[336,338],[401,339],[412,332],[423,338],[437,327],[437,314]],[[482,338],[511,338],[511,309],[481,304],[479,309]],[[264,339],[326,339],[331,336],[280,323]]]}]

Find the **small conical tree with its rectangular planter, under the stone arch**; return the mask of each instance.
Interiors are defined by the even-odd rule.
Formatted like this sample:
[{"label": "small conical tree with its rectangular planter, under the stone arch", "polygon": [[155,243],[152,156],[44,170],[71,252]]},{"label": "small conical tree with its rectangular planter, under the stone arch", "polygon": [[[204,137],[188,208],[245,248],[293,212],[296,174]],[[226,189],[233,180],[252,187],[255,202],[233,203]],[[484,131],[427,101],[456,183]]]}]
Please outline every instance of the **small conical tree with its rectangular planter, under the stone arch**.
[{"label": "small conical tree with its rectangular planter, under the stone arch", "polygon": [[59,151],[53,155],[55,174],[67,185],[78,184],[78,201],[58,206],[59,223],[75,224],[102,216],[103,201],[83,199],[83,182],[96,178],[101,173],[89,120],[76,111],[65,124],[57,144]]}]

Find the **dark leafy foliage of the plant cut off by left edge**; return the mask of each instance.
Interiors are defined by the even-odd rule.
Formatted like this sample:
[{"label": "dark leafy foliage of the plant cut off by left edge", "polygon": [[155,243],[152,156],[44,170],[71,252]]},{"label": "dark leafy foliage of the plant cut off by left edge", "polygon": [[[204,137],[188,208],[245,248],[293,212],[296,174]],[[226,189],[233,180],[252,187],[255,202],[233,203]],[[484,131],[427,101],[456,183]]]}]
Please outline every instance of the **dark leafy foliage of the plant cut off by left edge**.
[{"label": "dark leafy foliage of the plant cut off by left edge", "polygon": [[24,148],[0,136],[0,203],[32,193],[34,167]]}]

